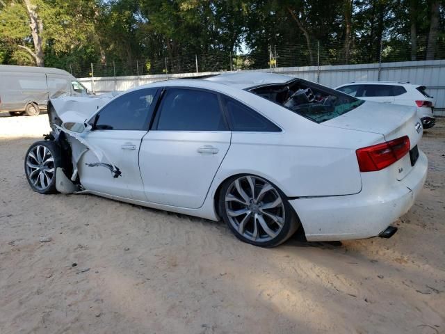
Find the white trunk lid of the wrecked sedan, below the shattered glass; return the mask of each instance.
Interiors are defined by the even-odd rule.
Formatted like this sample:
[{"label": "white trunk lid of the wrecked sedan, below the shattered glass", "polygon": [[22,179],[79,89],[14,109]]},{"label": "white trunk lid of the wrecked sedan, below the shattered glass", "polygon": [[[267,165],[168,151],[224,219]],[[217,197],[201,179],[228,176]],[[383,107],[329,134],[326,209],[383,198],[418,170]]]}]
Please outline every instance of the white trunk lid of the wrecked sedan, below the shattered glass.
[{"label": "white trunk lid of the wrecked sedan, below the shattered glass", "polygon": [[[423,128],[413,106],[399,106],[396,104],[382,104],[367,101],[356,109],[341,116],[321,123],[327,127],[339,127],[363,132],[382,134],[385,141],[408,136],[410,150],[422,138]],[[375,143],[370,143],[373,145]],[[358,147],[357,147],[358,148]],[[412,169],[410,154],[388,166],[389,173],[393,173],[396,180],[402,180]]]}]

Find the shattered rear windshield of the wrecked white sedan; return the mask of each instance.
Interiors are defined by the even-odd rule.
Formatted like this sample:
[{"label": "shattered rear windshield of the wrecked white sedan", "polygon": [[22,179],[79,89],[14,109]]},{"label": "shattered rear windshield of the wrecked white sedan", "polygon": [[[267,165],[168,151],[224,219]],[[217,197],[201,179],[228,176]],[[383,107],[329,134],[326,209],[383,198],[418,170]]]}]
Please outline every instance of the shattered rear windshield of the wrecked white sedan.
[{"label": "shattered rear windshield of the wrecked white sedan", "polygon": [[336,118],[364,103],[338,90],[302,79],[249,91],[317,123]]}]

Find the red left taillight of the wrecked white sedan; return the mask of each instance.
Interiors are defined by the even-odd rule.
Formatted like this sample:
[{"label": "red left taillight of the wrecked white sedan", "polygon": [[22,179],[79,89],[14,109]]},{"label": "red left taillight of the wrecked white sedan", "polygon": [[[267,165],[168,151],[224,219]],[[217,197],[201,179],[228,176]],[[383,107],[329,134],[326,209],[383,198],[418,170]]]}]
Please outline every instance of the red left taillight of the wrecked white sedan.
[{"label": "red left taillight of the wrecked white sedan", "polygon": [[410,152],[410,138],[401,138],[377,145],[359,148],[355,153],[361,172],[375,172],[394,164]]}]

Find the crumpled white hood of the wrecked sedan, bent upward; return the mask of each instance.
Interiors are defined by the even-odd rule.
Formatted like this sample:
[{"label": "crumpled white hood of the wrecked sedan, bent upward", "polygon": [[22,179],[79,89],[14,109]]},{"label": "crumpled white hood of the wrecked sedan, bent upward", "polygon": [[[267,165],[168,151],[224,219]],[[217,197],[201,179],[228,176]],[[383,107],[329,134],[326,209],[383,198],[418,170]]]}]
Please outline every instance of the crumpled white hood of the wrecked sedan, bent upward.
[{"label": "crumpled white hood of the wrecked sedan, bent upward", "polygon": [[119,94],[111,92],[102,95],[66,96],[50,101],[62,122],[85,122],[97,109]]}]

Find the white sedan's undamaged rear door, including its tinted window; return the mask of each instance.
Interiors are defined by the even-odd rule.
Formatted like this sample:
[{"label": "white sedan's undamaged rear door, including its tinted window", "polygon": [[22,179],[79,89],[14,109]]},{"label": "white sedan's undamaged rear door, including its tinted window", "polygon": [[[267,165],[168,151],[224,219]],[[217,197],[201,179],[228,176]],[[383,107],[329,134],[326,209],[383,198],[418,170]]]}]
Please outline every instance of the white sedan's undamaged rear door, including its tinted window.
[{"label": "white sedan's undamaged rear door, including its tinted window", "polygon": [[230,145],[216,93],[168,88],[140,145],[140,173],[152,203],[198,208]]}]

